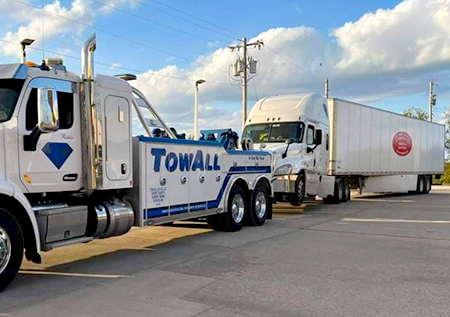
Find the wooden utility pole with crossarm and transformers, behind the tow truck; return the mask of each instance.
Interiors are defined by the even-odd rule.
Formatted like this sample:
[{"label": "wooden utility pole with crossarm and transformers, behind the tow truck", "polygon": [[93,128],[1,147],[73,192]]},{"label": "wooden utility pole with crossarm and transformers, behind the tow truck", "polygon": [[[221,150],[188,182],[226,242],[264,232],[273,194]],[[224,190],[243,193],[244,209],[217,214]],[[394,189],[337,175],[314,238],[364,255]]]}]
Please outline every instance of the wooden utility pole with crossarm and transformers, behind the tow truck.
[{"label": "wooden utility pole with crossarm and transformers, behind the tow truck", "polygon": [[239,59],[236,61],[234,65],[234,76],[241,76],[242,78],[242,128],[245,126],[245,122],[247,121],[247,83],[248,83],[248,70],[250,68],[250,74],[256,73],[256,61],[251,59],[249,60],[247,56],[247,47],[253,46],[255,48],[261,49],[264,46],[264,42],[262,40],[258,40],[253,43],[248,43],[247,38],[243,38],[240,40],[242,44],[229,46],[231,51],[243,50],[243,58],[242,61]]}]

